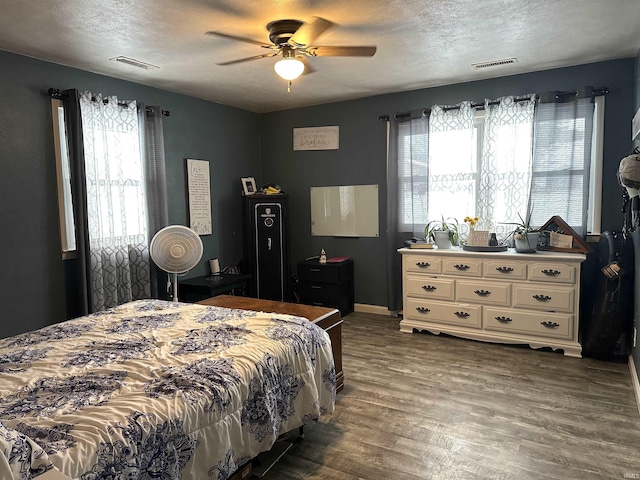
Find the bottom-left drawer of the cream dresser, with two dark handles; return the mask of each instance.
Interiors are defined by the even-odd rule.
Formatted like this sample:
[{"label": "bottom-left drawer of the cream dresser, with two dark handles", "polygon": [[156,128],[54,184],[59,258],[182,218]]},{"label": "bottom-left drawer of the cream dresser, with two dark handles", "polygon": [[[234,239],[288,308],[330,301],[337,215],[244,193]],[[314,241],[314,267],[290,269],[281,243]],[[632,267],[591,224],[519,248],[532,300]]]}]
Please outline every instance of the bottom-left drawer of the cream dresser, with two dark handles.
[{"label": "bottom-left drawer of the cream dresser, with two dark handles", "polygon": [[414,320],[481,328],[481,307],[412,298],[403,307],[403,315]]}]

